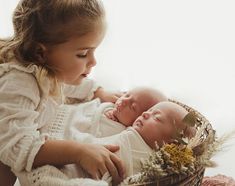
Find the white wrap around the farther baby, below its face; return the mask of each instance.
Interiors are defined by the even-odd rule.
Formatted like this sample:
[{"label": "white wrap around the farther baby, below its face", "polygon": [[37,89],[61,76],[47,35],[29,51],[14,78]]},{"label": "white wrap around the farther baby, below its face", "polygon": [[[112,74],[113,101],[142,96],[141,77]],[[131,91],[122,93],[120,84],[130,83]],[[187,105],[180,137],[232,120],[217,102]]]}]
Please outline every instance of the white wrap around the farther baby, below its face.
[{"label": "white wrap around the farther baby, below its face", "polygon": [[77,139],[77,132],[92,134],[95,137],[106,137],[118,134],[126,127],[119,122],[108,119],[104,112],[113,109],[113,103],[100,103],[95,99],[78,105],[64,105],[69,109],[69,117],[65,124],[65,138]]}]

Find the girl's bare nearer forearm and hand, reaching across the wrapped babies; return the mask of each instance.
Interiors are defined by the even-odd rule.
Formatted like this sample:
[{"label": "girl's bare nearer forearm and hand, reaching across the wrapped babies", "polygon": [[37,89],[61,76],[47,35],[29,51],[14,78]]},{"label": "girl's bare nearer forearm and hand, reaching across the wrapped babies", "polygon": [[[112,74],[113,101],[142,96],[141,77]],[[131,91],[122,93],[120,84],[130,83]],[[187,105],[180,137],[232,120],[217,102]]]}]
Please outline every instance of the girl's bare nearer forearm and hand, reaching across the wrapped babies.
[{"label": "girl's bare nearer forearm and hand, reaching across the wrapped babies", "polygon": [[123,179],[124,166],[113,153],[118,149],[118,146],[111,145],[104,147],[68,140],[48,140],[37,153],[33,166],[75,163],[94,179],[100,179],[108,171],[113,181],[119,183]]}]

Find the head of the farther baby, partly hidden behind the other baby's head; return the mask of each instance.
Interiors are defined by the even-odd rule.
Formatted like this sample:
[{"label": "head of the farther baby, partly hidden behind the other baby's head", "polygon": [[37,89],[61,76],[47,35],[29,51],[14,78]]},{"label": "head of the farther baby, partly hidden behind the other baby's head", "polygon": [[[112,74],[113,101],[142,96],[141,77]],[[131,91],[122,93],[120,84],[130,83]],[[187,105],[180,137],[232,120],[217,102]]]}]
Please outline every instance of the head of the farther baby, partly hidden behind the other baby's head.
[{"label": "head of the farther baby, partly hidden behind the other baby's head", "polygon": [[160,101],[167,101],[167,98],[158,90],[134,88],[116,101],[113,114],[120,123],[131,126],[138,116]]}]

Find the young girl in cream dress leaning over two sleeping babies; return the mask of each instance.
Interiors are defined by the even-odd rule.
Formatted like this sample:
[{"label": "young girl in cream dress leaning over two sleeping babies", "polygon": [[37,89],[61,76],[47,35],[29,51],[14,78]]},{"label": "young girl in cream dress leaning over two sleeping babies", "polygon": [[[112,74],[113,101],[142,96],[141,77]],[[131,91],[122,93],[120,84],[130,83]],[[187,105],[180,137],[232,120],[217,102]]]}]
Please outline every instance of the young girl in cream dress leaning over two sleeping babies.
[{"label": "young girl in cream dress leaning over two sleeping babies", "polygon": [[[96,65],[94,52],[105,34],[101,3],[21,0],[13,24],[14,36],[0,42],[0,168],[4,167],[4,174],[6,166],[17,173],[46,164],[75,163],[94,179],[109,172],[115,182],[120,181],[123,163],[113,153],[118,146],[57,140],[46,132],[64,96],[117,99],[86,78]],[[8,173],[12,177],[10,169]]]}]

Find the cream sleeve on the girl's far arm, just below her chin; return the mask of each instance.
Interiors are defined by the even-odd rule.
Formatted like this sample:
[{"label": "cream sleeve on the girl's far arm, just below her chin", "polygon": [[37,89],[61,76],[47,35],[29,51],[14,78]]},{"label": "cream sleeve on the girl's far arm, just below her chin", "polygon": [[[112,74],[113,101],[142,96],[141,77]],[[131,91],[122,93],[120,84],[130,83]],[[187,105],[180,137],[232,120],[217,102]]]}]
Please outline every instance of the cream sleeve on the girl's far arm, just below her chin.
[{"label": "cream sleeve on the girl's far arm, just below her chin", "polygon": [[89,101],[94,97],[94,92],[99,88],[97,83],[91,79],[83,79],[79,86],[64,85],[64,94],[69,98],[77,98]]}]

